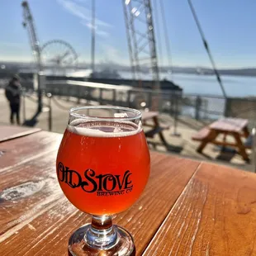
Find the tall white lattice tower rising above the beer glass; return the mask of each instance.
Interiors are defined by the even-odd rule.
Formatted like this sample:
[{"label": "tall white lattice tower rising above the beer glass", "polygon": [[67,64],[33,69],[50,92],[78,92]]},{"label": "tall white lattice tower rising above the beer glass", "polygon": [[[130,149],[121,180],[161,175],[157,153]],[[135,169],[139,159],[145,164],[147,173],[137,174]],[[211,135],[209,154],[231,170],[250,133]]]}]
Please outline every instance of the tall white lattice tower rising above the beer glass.
[{"label": "tall white lattice tower rising above the beer glass", "polygon": [[159,90],[159,67],[154,38],[151,0],[121,0],[126,20],[126,33],[133,79],[140,73],[152,74],[152,89]]}]

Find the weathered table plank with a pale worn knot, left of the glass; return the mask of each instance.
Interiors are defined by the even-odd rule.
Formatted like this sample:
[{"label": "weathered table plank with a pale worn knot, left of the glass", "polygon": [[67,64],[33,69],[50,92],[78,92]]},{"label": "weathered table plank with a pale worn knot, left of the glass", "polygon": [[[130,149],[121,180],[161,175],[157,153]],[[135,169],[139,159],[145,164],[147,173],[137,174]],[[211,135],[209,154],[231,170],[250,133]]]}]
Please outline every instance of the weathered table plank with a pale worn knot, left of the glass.
[{"label": "weathered table plank with a pale worn knot, left of the glass", "polygon": [[[56,181],[56,153],[0,173],[0,234],[14,234],[63,197]],[[0,241],[2,237],[0,236]]]}]

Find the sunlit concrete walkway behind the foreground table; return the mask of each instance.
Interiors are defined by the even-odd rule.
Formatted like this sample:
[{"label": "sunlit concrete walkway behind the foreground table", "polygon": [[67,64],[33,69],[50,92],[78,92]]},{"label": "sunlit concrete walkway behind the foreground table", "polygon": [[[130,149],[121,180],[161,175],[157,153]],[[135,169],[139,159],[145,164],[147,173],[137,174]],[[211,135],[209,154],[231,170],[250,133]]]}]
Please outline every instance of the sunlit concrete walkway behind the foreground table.
[{"label": "sunlit concrete walkway behind the foreground table", "polygon": [[[35,102],[34,102],[35,101]],[[48,103],[47,98],[44,99],[45,104]],[[52,106],[52,131],[63,133],[65,127],[68,123],[69,118],[69,108],[77,106],[73,98],[72,102],[67,102],[66,99],[59,99],[55,97],[51,102]],[[26,99],[26,119],[30,119],[36,113],[36,97],[31,97],[31,99]],[[88,102],[80,102],[79,105],[87,105]],[[21,106],[21,121],[24,120],[24,108]],[[40,127],[43,130],[48,130],[48,114],[47,108],[44,109],[38,117],[38,122],[36,127]],[[3,90],[0,90],[0,124],[9,123],[9,107],[7,100],[4,96]],[[226,164],[235,166],[235,168],[243,168],[245,170],[251,170],[252,166],[250,164],[244,163],[244,160],[238,154],[234,152],[221,153],[220,149],[214,145],[207,145],[204,150],[204,155],[198,154],[197,142],[191,140],[192,134],[196,133],[202,126],[206,124],[195,121],[189,117],[183,117],[178,121],[177,131],[181,136],[173,136],[173,118],[168,115],[161,115],[160,122],[171,126],[169,130],[164,130],[164,136],[170,145],[168,149],[161,145],[158,135],[154,139],[149,139],[149,147],[153,150],[158,150],[163,153],[168,154],[178,154],[190,159],[202,159],[205,161],[211,161],[216,164]]]}]

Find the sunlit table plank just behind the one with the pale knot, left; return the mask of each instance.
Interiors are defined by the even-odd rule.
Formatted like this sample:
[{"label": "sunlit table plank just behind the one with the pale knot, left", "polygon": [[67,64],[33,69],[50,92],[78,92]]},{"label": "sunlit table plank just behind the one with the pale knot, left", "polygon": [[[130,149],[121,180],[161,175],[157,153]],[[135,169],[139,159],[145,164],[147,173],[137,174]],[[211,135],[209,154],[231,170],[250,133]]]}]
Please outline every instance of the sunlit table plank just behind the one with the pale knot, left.
[{"label": "sunlit table plank just behind the one with the pale knot, left", "polygon": [[0,144],[0,173],[17,164],[27,163],[38,156],[50,154],[59,148],[62,135],[40,131],[15,140]]}]

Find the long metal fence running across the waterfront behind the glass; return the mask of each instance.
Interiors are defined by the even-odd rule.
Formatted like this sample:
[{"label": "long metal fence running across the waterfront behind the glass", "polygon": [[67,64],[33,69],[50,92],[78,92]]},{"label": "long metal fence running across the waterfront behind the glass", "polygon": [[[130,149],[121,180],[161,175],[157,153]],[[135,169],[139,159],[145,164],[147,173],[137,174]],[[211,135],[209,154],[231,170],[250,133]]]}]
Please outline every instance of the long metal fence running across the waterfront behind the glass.
[{"label": "long metal fence running across the waterfront behind the glass", "polygon": [[[32,92],[31,85],[27,91]],[[50,94],[49,94],[50,93]],[[254,126],[256,99],[227,98],[212,95],[183,94],[180,91],[152,91],[125,85],[109,85],[80,81],[46,81],[43,95],[52,95],[55,102],[81,100],[89,103],[110,104],[159,111],[173,116],[175,126],[180,118],[189,116],[196,121],[211,122],[221,116],[246,118]],[[62,105],[61,105],[62,104]],[[59,107],[63,106],[59,103]],[[50,107],[51,109],[51,107]],[[51,110],[50,110],[51,111]]]}]

